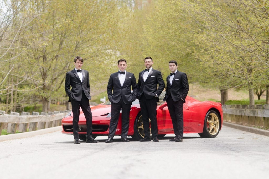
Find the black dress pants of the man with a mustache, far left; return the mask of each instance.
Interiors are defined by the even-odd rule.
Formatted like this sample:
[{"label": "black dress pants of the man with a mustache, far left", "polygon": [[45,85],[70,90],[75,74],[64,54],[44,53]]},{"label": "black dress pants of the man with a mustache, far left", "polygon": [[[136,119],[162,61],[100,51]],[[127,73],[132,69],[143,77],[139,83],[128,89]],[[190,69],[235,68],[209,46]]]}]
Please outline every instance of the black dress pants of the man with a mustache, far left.
[{"label": "black dress pants of the man with a mustache, far left", "polygon": [[79,139],[79,107],[81,107],[84,116],[86,118],[87,126],[87,139],[93,137],[93,115],[91,114],[91,107],[89,99],[86,97],[84,92],[82,92],[81,101],[71,101],[72,112],[73,112],[73,134],[74,139]]}]

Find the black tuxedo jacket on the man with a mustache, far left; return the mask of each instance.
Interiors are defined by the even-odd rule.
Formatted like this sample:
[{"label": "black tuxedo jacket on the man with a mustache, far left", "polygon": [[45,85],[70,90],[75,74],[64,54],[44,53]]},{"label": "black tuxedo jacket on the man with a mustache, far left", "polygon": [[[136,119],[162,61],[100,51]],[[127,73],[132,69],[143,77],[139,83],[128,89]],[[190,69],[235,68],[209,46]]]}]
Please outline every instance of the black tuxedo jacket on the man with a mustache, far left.
[{"label": "black tuxedo jacket on the man with a mustache, far left", "polygon": [[[82,92],[84,92],[84,94],[89,100],[91,99],[89,72],[86,70],[82,70],[82,76],[83,78],[81,82],[75,69],[66,73],[65,92],[69,97],[68,101],[81,101]],[[70,86],[72,87],[71,90]]]}]

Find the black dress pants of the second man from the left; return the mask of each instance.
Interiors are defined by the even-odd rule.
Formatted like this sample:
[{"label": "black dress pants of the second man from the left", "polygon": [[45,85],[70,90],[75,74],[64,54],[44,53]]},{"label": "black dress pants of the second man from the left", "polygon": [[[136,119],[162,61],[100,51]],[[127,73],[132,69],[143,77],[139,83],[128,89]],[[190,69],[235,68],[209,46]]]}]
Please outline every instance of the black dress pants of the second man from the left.
[{"label": "black dress pants of the second man from the left", "polygon": [[119,122],[119,115],[121,112],[121,138],[127,137],[129,131],[129,115],[130,115],[131,103],[125,104],[123,100],[119,103],[111,103],[111,119],[109,124],[108,137],[113,138]]}]

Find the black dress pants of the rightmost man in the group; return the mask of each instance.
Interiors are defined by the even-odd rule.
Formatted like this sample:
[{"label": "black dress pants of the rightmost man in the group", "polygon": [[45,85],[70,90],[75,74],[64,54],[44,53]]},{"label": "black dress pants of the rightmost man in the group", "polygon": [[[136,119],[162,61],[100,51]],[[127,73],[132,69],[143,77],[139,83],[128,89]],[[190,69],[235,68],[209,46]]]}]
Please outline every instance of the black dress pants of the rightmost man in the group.
[{"label": "black dress pants of the rightmost man in the group", "polygon": [[183,101],[174,101],[171,95],[166,99],[167,107],[172,119],[174,133],[177,138],[183,137]]}]

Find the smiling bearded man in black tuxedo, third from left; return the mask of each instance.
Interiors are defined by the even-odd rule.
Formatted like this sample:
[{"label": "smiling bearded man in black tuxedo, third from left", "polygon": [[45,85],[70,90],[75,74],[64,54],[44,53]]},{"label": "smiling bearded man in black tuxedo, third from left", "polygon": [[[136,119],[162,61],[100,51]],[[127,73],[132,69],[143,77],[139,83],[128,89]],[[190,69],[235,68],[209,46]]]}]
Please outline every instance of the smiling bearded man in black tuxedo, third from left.
[{"label": "smiling bearded man in black tuxedo, third from left", "polygon": [[[146,69],[139,73],[139,79],[137,83],[140,109],[142,113],[142,121],[144,126],[144,138],[140,139],[143,141],[150,141],[150,123],[151,123],[151,134],[153,141],[158,142],[158,126],[157,126],[157,102],[162,90],[164,90],[165,84],[162,79],[162,74],[158,70],[152,68],[153,60],[151,57],[146,57],[144,60]],[[157,89],[157,84],[159,87]],[[149,121],[150,118],[150,121]]]}]

